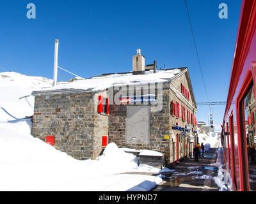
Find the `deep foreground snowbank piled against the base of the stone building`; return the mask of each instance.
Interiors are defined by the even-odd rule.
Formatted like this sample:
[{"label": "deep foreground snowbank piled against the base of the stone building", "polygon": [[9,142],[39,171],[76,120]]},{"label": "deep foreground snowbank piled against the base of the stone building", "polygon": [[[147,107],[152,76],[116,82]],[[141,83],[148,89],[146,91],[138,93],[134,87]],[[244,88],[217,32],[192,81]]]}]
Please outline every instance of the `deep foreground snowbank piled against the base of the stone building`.
[{"label": "deep foreground snowbank piled against the base of the stone building", "polygon": [[0,123],[0,191],[133,191],[136,186],[149,191],[161,182],[154,176],[116,174],[139,168],[135,156],[115,143],[97,160],[74,159],[26,133],[28,120]]}]

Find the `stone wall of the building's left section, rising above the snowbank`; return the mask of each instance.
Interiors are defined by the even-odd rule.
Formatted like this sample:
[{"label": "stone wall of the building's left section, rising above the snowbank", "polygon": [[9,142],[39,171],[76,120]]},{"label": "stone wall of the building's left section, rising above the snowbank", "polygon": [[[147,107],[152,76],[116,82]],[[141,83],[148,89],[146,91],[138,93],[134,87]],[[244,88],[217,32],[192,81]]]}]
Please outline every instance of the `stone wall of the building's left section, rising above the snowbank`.
[{"label": "stone wall of the building's left section, rising above the snowbank", "polygon": [[32,135],[44,141],[53,135],[56,149],[93,159],[101,152],[101,136],[108,136],[108,116],[97,113],[94,92],[35,96]]}]

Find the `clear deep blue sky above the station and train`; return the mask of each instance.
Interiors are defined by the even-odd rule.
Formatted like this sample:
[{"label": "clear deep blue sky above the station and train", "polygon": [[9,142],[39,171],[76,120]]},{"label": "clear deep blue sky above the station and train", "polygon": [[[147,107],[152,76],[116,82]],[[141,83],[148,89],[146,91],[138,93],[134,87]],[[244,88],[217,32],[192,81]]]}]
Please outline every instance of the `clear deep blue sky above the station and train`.
[{"label": "clear deep blue sky above the station and train", "polygon": [[[209,101],[227,99],[241,0],[187,0]],[[28,3],[36,18],[28,19]],[[220,3],[228,19],[220,19]],[[205,102],[184,0],[174,1],[0,1],[0,72],[52,78],[54,39],[59,66],[81,77],[131,71],[136,49],[146,64],[188,67],[196,102]],[[59,72],[58,80],[72,75]],[[225,106],[213,106],[214,123]],[[208,123],[209,106],[197,119]]]}]

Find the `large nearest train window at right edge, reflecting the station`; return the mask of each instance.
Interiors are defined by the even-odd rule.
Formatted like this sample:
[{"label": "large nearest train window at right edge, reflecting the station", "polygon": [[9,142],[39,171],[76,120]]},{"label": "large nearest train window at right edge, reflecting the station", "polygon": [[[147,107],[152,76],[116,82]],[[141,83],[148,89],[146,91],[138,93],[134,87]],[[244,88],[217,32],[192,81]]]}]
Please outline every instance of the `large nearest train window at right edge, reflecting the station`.
[{"label": "large nearest train window at right edge, reflecting the station", "polygon": [[[244,148],[244,154],[246,155],[247,153],[247,162],[243,162],[244,164],[248,163],[248,170],[247,175],[244,176],[245,178],[249,178],[250,182],[250,190],[255,191],[256,190],[256,143],[254,143],[254,136],[255,136],[255,118],[254,118],[254,113],[255,113],[255,98],[253,94],[253,87],[251,85],[250,89],[246,92],[246,97],[244,98],[243,107],[244,107],[244,122],[245,124],[245,133],[242,135],[246,136],[246,138],[242,139],[242,145]],[[242,105],[242,104],[241,104]],[[243,121],[243,120],[241,120]],[[241,128],[244,129],[244,128]],[[243,130],[244,131],[244,130]],[[246,152],[245,152],[246,151]],[[246,179],[244,179],[246,182]]]}]

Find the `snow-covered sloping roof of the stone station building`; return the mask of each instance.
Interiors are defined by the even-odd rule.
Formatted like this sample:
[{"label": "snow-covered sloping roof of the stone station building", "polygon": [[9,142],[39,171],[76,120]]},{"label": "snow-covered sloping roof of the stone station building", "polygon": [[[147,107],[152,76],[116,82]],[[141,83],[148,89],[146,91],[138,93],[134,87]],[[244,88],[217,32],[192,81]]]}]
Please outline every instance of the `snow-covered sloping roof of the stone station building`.
[{"label": "snow-covered sloping roof of the stone station building", "polygon": [[34,95],[49,91],[68,91],[68,90],[84,90],[84,91],[101,91],[113,86],[123,85],[140,85],[151,84],[157,82],[168,82],[182,73],[186,68],[175,68],[164,70],[145,71],[145,75],[132,75],[131,73],[115,73],[109,75],[101,75],[99,77],[92,77],[87,79],[77,79],[73,82],[61,82],[55,87],[44,87],[38,92],[33,92]]}]

